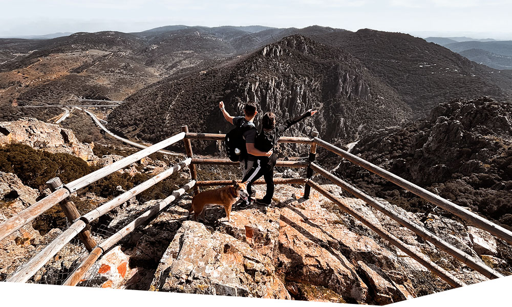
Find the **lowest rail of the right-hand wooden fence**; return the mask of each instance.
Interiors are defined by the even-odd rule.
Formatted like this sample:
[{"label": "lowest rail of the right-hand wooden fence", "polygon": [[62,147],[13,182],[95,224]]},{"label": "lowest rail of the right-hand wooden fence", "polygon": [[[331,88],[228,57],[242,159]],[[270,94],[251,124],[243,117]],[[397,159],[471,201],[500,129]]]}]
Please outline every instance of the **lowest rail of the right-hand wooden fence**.
[{"label": "lowest rail of the right-hand wooden fence", "polygon": [[396,246],[402,252],[406,253],[411,258],[413,258],[416,261],[418,261],[425,268],[429,269],[431,272],[433,272],[434,274],[439,276],[441,279],[443,279],[444,281],[449,283],[450,286],[452,286],[452,287],[463,287],[463,286],[466,285],[464,282],[460,281],[457,277],[453,276],[450,272],[447,272],[443,268],[441,268],[438,265],[436,265],[434,262],[432,262],[428,257],[423,255],[422,253],[416,252],[416,251],[408,248],[406,246],[406,244],[404,244],[399,238],[395,237],[394,235],[392,235],[391,233],[387,232],[386,230],[381,229],[380,227],[374,225],[372,222],[367,220],[364,216],[360,215],[357,211],[355,211],[351,207],[346,206],[345,204],[343,204],[343,202],[338,200],[334,195],[332,195],[328,191],[324,190],[321,186],[319,186],[315,182],[313,182],[311,180],[308,180],[306,183],[308,185],[310,185],[312,188],[314,188],[315,190],[317,190],[318,192],[322,193],[324,196],[326,196],[326,198],[328,198],[333,203],[338,205],[338,207],[340,207],[341,209],[345,210],[350,215],[352,215],[355,218],[357,218],[357,220],[359,222],[361,222],[362,224],[366,225],[371,230],[375,231],[382,238],[388,240],[389,243],[391,243],[392,245]]}]

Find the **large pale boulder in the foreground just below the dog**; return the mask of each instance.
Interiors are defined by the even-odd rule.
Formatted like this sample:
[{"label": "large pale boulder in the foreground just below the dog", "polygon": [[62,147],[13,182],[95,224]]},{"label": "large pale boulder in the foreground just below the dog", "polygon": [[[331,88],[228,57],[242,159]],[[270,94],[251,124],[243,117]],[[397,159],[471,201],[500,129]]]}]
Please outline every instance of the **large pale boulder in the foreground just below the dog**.
[{"label": "large pale boulder in the foreground just below the dog", "polygon": [[186,221],[165,252],[153,286],[159,291],[290,298],[270,260],[249,245]]}]

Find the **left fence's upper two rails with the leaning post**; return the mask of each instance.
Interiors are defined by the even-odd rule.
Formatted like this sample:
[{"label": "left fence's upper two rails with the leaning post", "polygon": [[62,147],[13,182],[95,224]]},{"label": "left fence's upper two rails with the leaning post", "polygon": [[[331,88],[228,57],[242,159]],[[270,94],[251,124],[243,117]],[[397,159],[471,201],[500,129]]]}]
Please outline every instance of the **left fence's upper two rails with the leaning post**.
[{"label": "left fence's upper two rails with the leaning post", "polygon": [[[31,222],[37,216],[44,213],[46,210],[50,209],[54,205],[60,203],[63,211],[65,211],[68,219],[73,221],[73,224],[64,232],[62,232],[56,239],[54,239],[45,249],[40,251],[37,255],[35,255],[27,264],[18,269],[7,281],[15,281],[15,282],[26,282],[29,280],[37,270],[42,268],[46,262],[55,256],[70,240],[75,237],[77,234],[83,234],[83,231],[86,230],[88,224],[101,215],[110,212],[114,208],[123,204],[127,200],[133,198],[135,195],[141,193],[162,181],[163,179],[169,177],[171,174],[183,169],[184,167],[190,165],[191,158],[187,158],[181,163],[168,168],[167,170],[161,172],[157,176],[141,183],[140,185],[130,189],[129,191],[124,192],[123,194],[117,196],[117,198],[113,199],[110,202],[103,204],[102,206],[92,210],[91,212],[80,216],[78,210],[75,205],[69,199],[69,195],[71,192],[77,191],[83,187],[88,186],[89,184],[96,182],[109,174],[118,171],[125,166],[128,166],[134,162],[139,161],[140,159],[151,155],[152,153],[163,149],[169,145],[172,145],[180,140],[183,140],[185,137],[185,133],[179,133],[173,137],[170,137],[160,143],[147,147],[141,151],[134,153],[131,156],[123,158],[115,163],[112,163],[108,166],[105,166],[101,169],[98,169],[82,178],[79,178],[75,181],[72,181],[68,184],[62,184],[60,179],[54,178],[50,180],[47,184],[50,188],[54,189],[54,191],[46,196],[46,198],[36,202],[29,208],[19,212],[18,214],[12,216],[5,223],[0,225],[0,240],[12,234],[14,231],[22,228],[27,223]],[[192,186],[195,186],[196,181],[191,181],[188,183],[186,189],[188,190]],[[176,191],[175,191],[176,192]],[[184,191],[183,191],[184,192]],[[181,192],[181,194],[183,193]],[[181,195],[180,194],[180,195]],[[166,199],[165,201],[173,201],[176,199],[177,195],[173,193],[172,199]],[[171,197],[169,196],[169,197]],[[65,204],[63,204],[65,203]],[[167,203],[168,204],[168,203]],[[153,212],[154,210],[151,210]],[[78,215],[77,215],[78,214]],[[138,225],[138,224],[137,224]],[[125,229],[123,231],[126,231]],[[125,234],[124,234],[125,235]],[[121,234],[121,237],[123,234]],[[93,250],[96,247],[96,243],[94,239],[92,239],[90,232],[84,236],[80,236],[80,240],[86,246],[88,251]],[[104,244],[104,243],[102,243]]]}]

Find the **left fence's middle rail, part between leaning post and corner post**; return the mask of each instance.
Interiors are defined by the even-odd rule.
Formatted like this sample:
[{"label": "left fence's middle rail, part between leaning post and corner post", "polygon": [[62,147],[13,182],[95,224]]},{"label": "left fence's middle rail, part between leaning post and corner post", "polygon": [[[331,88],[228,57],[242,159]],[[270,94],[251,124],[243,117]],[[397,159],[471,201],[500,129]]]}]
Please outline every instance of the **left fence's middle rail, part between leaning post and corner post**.
[{"label": "left fence's middle rail, part between leaning post and corner post", "polygon": [[185,168],[186,166],[190,165],[190,161],[192,161],[191,158],[187,158],[183,160],[182,162],[174,165],[173,167],[170,167],[163,172],[159,173],[158,175],[144,181],[143,183],[131,188],[130,190],[122,193],[121,195],[117,196],[115,199],[112,199],[109,202],[104,203],[103,205],[99,206],[98,208],[92,210],[91,212],[83,215],[81,217],[82,220],[86,221],[87,223],[91,223],[92,221],[96,220],[96,218],[100,217],[101,215],[110,212],[112,209],[118,207],[119,205],[123,204],[124,202],[130,200],[134,196],[138,195],[139,193],[142,193],[146,189],[156,185],[160,181],[164,180],[165,178],[169,177],[173,173],[180,171],[181,169]]}]

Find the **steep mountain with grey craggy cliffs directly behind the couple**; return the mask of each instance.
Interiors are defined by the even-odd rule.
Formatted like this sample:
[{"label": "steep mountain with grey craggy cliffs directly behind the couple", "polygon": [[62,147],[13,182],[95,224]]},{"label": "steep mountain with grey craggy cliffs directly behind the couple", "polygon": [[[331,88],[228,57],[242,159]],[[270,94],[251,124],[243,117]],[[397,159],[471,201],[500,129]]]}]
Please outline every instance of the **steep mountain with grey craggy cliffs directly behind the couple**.
[{"label": "steep mountain with grey craggy cliffs directly behind the couple", "polygon": [[[109,125],[154,141],[185,124],[190,131],[227,131],[230,125],[218,109],[220,100],[233,116],[242,115],[245,103],[254,101],[259,106],[256,123],[265,112],[274,112],[284,121],[309,108],[319,109],[289,133],[308,135],[315,129],[327,140],[397,125],[410,114],[396,92],[356,58],[294,35],[204,75],[168,78],[148,86],[116,108],[109,115]],[[152,113],[149,120],[141,108],[153,106],[162,112]],[[200,149],[206,145],[196,144]]]}]

